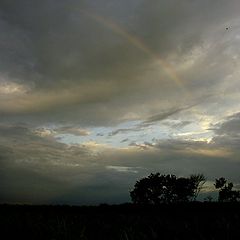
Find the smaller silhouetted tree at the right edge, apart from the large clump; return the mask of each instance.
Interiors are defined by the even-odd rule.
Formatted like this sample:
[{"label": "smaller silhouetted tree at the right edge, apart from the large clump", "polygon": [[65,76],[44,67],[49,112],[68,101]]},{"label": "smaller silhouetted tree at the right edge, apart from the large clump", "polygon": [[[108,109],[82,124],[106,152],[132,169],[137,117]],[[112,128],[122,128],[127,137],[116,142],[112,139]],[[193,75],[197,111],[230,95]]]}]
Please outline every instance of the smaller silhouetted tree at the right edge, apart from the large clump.
[{"label": "smaller silhouetted tree at the right edge, apart from the large clump", "polygon": [[215,180],[215,188],[219,189],[218,201],[236,202],[240,200],[240,191],[233,190],[233,183],[228,183],[223,177]]}]

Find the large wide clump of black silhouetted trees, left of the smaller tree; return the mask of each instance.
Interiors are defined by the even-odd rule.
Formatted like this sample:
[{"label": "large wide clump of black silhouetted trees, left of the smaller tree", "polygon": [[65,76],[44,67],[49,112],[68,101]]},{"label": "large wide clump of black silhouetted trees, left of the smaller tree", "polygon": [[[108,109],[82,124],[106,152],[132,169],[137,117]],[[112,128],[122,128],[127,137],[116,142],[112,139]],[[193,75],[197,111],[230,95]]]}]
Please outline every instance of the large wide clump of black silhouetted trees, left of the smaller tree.
[{"label": "large wide clump of black silhouetted trees, left of the smaller tree", "polygon": [[188,202],[196,199],[204,182],[202,174],[177,178],[172,174],[151,173],[136,182],[130,196],[135,204],[143,205]]}]

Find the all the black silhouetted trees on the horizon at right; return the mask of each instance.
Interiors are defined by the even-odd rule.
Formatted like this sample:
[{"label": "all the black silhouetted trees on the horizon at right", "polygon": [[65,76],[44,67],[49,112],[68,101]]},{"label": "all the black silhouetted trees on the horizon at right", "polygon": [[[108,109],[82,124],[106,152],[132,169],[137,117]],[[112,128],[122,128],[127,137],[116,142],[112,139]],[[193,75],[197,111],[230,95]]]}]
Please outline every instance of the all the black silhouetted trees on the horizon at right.
[{"label": "all the black silhouetted trees on the horizon at right", "polygon": [[[173,174],[151,173],[148,177],[136,182],[134,189],[130,191],[130,196],[132,202],[137,205],[191,202],[197,200],[205,182],[206,178],[203,174],[177,177]],[[233,183],[228,183],[225,178],[215,179],[214,187],[218,190],[218,201],[237,202],[240,200],[240,191],[235,190]]]}]

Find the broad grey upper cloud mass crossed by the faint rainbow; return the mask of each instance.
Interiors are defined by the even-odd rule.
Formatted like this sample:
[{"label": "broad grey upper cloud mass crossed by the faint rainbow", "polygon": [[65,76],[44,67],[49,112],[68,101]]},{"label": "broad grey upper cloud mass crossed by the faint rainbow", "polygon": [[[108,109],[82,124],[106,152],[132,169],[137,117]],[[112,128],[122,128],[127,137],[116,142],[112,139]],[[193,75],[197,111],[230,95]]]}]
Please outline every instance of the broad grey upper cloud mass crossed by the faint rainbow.
[{"label": "broad grey upper cloud mass crossed by the faint rainbow", "polygon": [[[0,112],[7,119],[82,125],[171,116],[176,101],[188,106],[219,92],[224,78],[236,72],[238,5],[1,1],[0,74],[8,98]],[[108,24],[99,20],[103,16]],[[228,35],[221,30],[226,24]],[[21,95],[13,94],[16,86]]]}]

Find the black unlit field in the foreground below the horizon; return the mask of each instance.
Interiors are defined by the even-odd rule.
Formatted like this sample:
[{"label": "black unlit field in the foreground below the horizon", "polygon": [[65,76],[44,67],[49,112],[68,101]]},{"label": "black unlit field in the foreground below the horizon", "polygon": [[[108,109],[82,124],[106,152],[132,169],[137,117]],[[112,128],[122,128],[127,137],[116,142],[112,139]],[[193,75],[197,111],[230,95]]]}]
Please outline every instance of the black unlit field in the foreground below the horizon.
[{"label": "black unlit field in the foreground below the horizon", "polygon": [[240,204],[0,205],[4,239],[240,239]]}]

